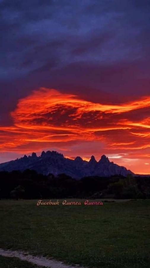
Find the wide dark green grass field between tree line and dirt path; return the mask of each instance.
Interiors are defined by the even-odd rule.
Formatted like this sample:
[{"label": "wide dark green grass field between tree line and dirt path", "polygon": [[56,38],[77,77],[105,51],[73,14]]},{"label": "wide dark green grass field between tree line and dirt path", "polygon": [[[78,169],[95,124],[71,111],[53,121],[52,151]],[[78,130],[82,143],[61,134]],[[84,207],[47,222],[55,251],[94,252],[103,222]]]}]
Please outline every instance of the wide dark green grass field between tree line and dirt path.
[{"label": "wide dark green grass field between tree line and dirt path", "polygon": [[36,203],[0,201],[1,248],[89,267],[150,267],[150,200],[103,206]]}]

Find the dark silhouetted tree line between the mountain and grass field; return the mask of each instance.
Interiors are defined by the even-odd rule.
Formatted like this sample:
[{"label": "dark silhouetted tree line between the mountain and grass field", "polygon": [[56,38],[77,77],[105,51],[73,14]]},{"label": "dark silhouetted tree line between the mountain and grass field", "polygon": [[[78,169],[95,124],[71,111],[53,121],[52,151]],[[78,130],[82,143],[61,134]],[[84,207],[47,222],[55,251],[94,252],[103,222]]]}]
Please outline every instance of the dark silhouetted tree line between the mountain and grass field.
[{"label": "dark silhouetted tree line between the mountain and grass field", "polygon": [[0,172],[0,199],[150,198],[150,177],[114,175],[75,180],[66,174],[48,176],[34,170]]}]

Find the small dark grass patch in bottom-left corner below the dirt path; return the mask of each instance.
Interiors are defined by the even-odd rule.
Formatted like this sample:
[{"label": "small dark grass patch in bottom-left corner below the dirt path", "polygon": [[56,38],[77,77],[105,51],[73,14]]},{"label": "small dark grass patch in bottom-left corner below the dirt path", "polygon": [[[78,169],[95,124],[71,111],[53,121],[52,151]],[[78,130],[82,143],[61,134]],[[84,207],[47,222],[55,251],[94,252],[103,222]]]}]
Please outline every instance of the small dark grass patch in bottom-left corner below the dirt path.
[{"label": "small dark grass patch in bottom-left corner below the dirt path", "polygon": [[20,261],[18,258],[8,258],[0,256],[0,268],[38,268],[38,267],[39,266],[31,264],[28,261]]}]

